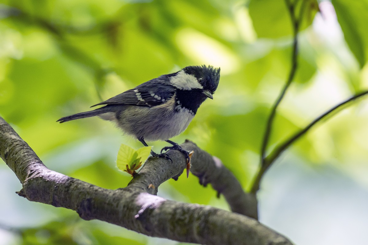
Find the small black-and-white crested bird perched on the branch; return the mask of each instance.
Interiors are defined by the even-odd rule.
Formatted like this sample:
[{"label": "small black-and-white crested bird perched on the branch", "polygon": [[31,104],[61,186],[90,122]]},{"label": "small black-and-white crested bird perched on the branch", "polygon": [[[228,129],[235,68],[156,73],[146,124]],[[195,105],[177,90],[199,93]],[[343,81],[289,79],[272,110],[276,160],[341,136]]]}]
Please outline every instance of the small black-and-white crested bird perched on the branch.
[{"label": "small black-and-white crested bird perched on the branch", "polygon": [[199,106],[207,98],[213,99],[219,81],[220,68],[187,66],[91,106],[103,107],[66,116],[57,122],[98,116],[115,122],[124,133],[137,138],[144,146],[148,146],[146,140],[164,140],[172,145],[163,147],[160,154],[151,150],[152,157],[163,157],[172,162],[163,153],[172,149],[183,153],[188,163],[188,151],[170,138],[187,129]]}]

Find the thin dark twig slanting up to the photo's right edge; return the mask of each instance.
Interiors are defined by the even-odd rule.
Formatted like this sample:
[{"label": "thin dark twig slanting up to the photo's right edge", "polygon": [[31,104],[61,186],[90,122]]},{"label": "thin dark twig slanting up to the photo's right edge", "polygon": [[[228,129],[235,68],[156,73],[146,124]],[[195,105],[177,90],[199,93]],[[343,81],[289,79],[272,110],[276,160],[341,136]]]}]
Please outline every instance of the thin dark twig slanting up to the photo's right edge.
[{"label": "thin dark twig slanting up to the photo's right edge", "polygon": [[316,123],[320,122],[321,120],[325,119],[328,115],[330,115],[332,112],[335,112],[337,109],[340,109],[342,106],[348,104],[351,101],[354,101],[355,99],[358,99],[364,95],[368,94],[368,91],[363,91],[358,94],[355,94],[354,96],[340,102],[339,104],[333,106],[331,109],[320,115],[318,118],[314,119],[311,123],[309,123],[304,129],[301,129],[299,132],[295,133],[293,136],[291,136],[288,140],[284,141],[284,143],[279,144],[266,158],[265,158],[265,164],[262,165],[261,169],[259,170],[255,181],[253,183],[251,193],[256,193],[259,189],[259,183],[261,182],[262,176],[265,173],[265,171],[270,167],[270,165],[275,162],[275,160],[287,149],[289,148],[295,141],[297,141],[301,136],[306,134],[311,127],[313,127]]}]

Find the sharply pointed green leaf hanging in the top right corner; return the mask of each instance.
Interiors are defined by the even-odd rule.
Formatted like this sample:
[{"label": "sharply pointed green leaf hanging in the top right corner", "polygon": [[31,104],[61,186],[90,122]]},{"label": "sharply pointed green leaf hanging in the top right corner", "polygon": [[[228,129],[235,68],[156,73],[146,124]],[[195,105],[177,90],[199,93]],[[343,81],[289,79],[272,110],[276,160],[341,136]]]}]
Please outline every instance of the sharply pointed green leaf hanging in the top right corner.
[{"label": "sharply pointed green leaf hanging in the top right corner", "polygon": [[363,67],[367,62],[368,52],[368,1],[332,0],[332,4],[345,40],[360,67]]}]

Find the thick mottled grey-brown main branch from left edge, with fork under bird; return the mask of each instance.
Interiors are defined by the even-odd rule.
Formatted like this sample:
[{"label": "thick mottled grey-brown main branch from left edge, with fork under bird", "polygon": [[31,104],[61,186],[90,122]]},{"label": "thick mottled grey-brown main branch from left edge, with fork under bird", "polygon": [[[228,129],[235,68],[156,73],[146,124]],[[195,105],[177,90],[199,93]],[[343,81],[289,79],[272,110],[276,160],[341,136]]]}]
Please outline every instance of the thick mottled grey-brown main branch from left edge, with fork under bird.
[{"label": "thick mottled grey-brown main branch from left edge, with fork under bird", "polygon": [[[186,146],[195,144],[186,142]],[[199,148],[198,148],[199,149]],[[207,154],[197,150],[193,165]],[[185,168],[183,154],[169,151],[173,163],[150,158],[126,188],[109,190],[48,169],[0,118],[0,156],[23,185],[28,200],[66,207],[85,220],[99,219],[142,234],[199,244],[291,244],[258,221],[225,210],[180,203],[152,194]],[[153,186],[155,188],[153,188]]]}]

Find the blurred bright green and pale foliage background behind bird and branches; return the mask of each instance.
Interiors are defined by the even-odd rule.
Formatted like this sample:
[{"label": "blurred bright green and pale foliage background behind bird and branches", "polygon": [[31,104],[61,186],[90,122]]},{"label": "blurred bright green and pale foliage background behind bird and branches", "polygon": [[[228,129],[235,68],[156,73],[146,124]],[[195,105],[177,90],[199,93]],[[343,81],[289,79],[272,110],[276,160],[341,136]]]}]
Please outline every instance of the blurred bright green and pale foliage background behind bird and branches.
[{"label": "blurred bright green and pale foliage background behind bird and branches", "polygon": [[[368,1],[305,6],[298,70],[271,148],[368,87]],[[56,120],[188,65],[221,67],[213,101],[174,141],[195,141],[248,190],[291,45],[283,0],[0,0],[0,115],[50,169],[122,188],[131,177],[116,167],[118,148],[140,143],[98,118]],[[367,125],[363,98],[297,141],[261,183],[260,221],[299,245],[367,244]],[[4,163],[0,186],[2,245],[178,244],[29,202]],[[228,209],[193,175],[165,182],[158,195]]]}]

